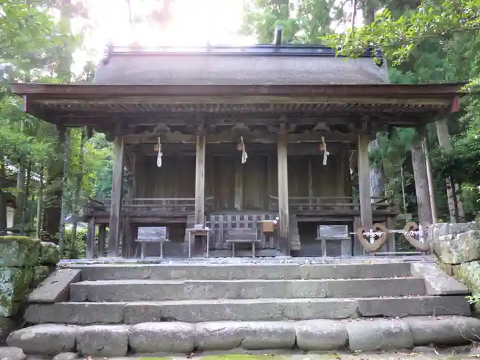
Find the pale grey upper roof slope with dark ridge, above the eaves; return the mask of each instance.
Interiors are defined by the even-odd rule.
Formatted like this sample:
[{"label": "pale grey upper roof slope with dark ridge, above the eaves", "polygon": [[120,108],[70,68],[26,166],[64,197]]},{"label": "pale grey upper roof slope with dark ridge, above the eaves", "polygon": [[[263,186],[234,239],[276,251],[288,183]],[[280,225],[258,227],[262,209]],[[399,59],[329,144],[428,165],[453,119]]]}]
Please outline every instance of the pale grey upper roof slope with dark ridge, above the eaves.
[{"label": "pale grey upper roof slope with dark ridge, above the eaves", "polygon": [[[235,49],[235,51],[232,51]],[[261,51],[258,51],[261,49]],[[324,47],[202,48],[111,51],[95,84],[328,85],[389,83],[370,56],[335,58]],[[294,51],[293,51],[294,50]]]}]

